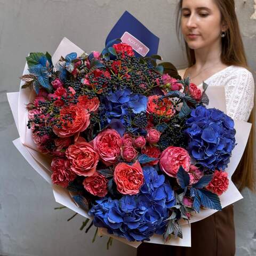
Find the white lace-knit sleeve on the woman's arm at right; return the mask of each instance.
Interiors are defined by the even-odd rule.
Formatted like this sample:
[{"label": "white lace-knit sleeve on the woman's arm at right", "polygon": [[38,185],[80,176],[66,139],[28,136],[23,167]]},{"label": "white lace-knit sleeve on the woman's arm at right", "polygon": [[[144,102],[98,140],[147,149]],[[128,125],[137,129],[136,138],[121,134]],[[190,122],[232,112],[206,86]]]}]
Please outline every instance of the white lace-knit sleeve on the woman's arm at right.
[{"label": "white lace-knit sleeve on the woman's arm at right", "polygon": [[226,84],[227,114],[233,119],[248,121],[254,105],[254,80],[247,69],[237,70]]}]

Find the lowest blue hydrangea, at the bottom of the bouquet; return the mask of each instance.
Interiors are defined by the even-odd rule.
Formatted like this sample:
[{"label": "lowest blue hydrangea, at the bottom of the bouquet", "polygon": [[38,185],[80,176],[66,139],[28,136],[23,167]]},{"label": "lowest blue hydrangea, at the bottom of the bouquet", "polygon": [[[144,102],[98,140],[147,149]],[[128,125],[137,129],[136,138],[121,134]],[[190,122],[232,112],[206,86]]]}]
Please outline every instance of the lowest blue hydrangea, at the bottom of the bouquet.
[{"label": "lowest blue hydrangea, at the bottom of the bouquet", "polygon": [[143,167],[145,182],[137,195],[121,199],[105,197],[97,200],[89,214],[96,227],[129,241],[149,241],[149,237],[163,234],[169,208],[175,205],[174,191],[164,175],[152,166]]}]

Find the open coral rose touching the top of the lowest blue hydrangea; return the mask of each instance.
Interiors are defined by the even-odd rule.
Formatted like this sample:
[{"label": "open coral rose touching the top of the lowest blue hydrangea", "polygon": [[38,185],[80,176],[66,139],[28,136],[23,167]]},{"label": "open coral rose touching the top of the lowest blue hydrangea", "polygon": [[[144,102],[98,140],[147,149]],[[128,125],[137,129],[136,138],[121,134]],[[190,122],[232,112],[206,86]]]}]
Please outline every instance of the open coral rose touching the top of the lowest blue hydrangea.
[{"label": "open coral rose touching the top of the lowest blue hydrangea", "polygon": [[114,181],[117,190],[124,195],[136,195],[143,185],[144,176],[140,163],[137,161],[133,165],[119,163],[115,167]]}]

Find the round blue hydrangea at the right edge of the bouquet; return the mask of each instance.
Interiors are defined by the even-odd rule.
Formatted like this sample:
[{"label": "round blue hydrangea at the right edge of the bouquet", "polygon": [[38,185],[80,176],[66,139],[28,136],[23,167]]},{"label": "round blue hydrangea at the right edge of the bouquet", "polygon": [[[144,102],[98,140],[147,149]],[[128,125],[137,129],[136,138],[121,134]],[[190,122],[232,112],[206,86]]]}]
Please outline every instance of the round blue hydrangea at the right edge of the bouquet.
[{"label": "round blue hydrangea at the right edge of the bouquet", "polygon": [[210,170],[225,170],[235,147],[233,119],[218,109],[198,106],[186,124],[190,156]]}]

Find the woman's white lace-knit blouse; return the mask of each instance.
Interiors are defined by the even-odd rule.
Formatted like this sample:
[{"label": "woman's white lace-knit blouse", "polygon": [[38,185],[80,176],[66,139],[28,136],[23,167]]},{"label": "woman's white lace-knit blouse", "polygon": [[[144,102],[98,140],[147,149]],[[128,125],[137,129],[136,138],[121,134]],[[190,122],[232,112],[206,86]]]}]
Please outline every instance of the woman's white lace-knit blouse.
[{"label": "woman's white lace-knit blouse", "polygon": [[[243,67],[229,66],[207,78],[204,82],[209,86],[224,85],[228,116],[248,121],[254,105],[254,80],[249,70]],[[203,84],[198,87],[202,90]]]}]

